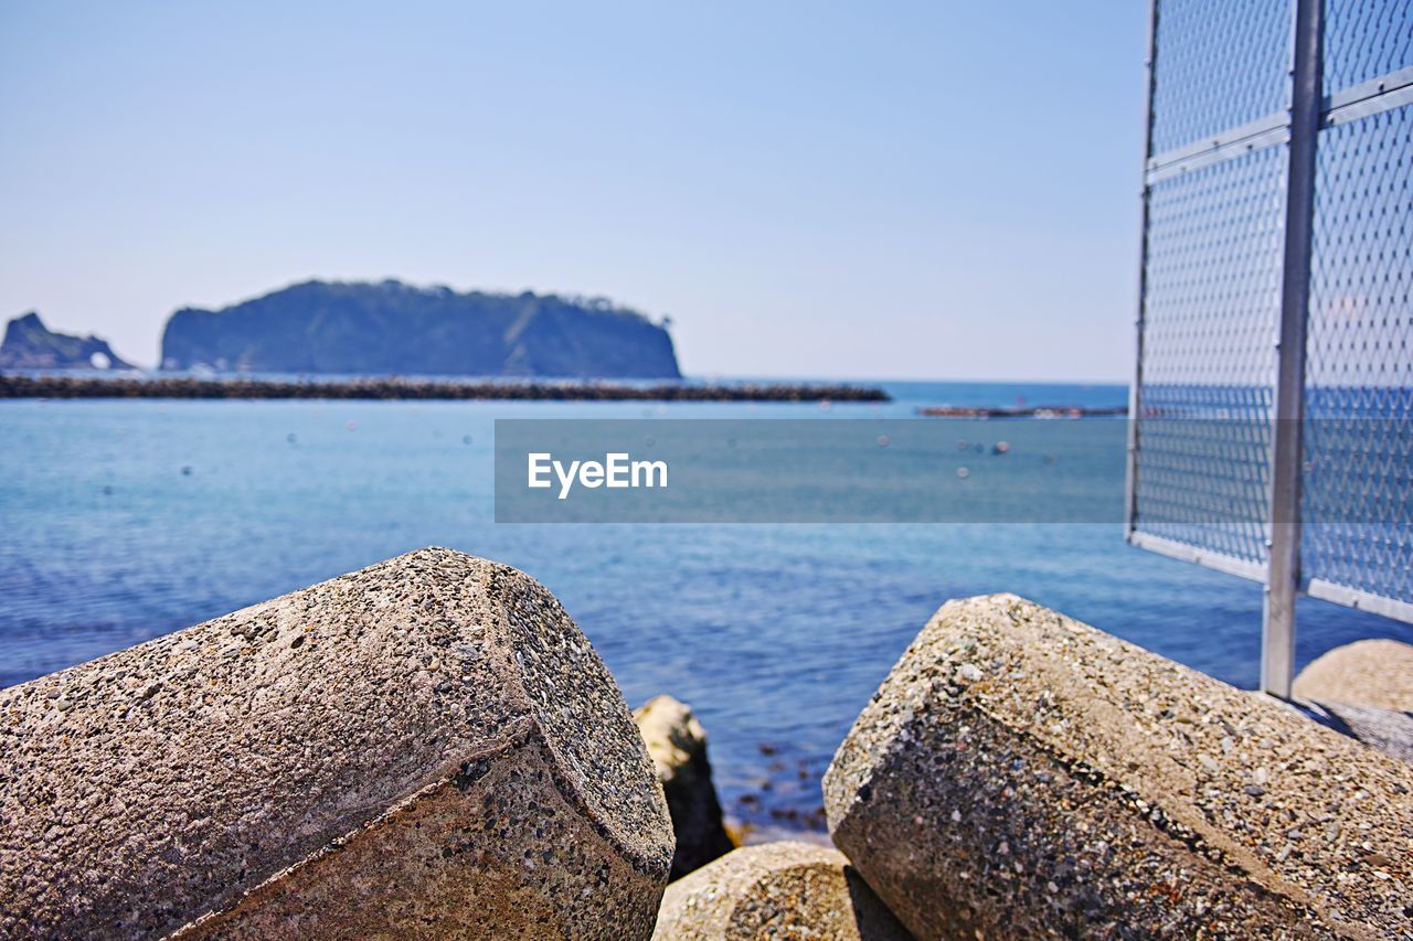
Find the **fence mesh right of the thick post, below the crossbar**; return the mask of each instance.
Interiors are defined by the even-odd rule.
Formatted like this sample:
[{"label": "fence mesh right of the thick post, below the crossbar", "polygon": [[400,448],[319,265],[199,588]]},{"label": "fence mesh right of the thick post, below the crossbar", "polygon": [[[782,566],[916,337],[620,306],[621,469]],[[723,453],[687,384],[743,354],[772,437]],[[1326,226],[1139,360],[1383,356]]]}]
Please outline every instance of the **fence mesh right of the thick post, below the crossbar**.
[{"label": "fence mesh right of the thick post, below the crossbar", "polygon": [[1320,137],[1303,574],[1413,600],[1413,105]]}]

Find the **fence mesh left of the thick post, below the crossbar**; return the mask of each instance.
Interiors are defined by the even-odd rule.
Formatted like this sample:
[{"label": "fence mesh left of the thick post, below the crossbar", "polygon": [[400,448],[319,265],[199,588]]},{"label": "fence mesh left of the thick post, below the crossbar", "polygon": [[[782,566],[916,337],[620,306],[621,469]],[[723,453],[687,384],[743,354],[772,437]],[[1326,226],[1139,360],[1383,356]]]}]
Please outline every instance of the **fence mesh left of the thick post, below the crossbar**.
[{"label": "fence mesh left of the thick post, below the crossbar", "polygon": [[1266,558],[1284,187],[1269,147],[1149,195],[1139,519],[1249,562]]}]

